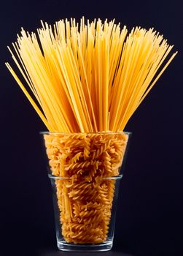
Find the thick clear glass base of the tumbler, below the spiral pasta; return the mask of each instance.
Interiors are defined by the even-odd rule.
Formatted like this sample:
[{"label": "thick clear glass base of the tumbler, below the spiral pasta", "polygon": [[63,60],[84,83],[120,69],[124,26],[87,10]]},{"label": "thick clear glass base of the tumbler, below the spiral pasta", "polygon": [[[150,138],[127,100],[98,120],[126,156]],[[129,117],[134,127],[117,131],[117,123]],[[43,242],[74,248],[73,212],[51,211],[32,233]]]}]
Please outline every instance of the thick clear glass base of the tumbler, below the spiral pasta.
[{"label": "thick clear glass base of the tumbler, below the spiral pasta", "polygon": [[67,252],[106,252],[112,249],[112,240],[101,244],[69,244],[66,241],[58,240],[58,249]]}]

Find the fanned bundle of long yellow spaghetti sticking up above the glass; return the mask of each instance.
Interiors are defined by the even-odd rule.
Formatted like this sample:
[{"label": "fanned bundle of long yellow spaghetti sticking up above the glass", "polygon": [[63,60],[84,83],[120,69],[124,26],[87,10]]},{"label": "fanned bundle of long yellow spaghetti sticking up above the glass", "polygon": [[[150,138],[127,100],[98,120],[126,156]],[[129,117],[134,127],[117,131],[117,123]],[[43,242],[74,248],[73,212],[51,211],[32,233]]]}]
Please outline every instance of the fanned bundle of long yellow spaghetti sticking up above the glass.
[{"label": "fanned bundle of long yellow spaghetti sticking up above the glass", "polygon": [[50,132],[122,131],[176,55],[154,29],[127,36],[114,20],[42,22],[37,34],[22,29],[9,48],[34,99],[6,65]]}]

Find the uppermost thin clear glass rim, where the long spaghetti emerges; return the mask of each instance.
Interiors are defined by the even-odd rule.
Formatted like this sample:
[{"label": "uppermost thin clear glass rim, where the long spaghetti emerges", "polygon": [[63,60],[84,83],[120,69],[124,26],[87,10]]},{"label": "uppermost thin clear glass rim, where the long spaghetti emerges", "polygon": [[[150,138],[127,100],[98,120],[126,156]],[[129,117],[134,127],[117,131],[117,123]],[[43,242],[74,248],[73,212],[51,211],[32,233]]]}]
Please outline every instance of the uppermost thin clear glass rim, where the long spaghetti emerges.
[{"label": "uppermost thin clear glass rim, where the long spaghetti emerges", "polygon": [[121,131],[121,132],[49,132],[49,131],[41,131],[39,132],[40,135],[74,135],[74,134],[125,134],[125,135],[131,135],[132,132],[125,132],[125,131]]}]

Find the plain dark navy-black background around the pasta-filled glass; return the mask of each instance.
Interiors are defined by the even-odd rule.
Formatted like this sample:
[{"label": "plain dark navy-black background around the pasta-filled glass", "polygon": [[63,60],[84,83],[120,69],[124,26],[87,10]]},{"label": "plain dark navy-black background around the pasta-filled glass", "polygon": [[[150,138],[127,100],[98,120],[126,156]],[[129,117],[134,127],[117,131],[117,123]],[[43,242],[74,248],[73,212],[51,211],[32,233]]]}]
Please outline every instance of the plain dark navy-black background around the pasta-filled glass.
[{"label": "plain dark navy-black background around the pasta-filled glass", "polygon": [[114,247],[106,255],[183,255],[181,2],[1,1],[0,255],[70,255],[56,246],[39,138],[45,127],[4,62],[13,62],[7,45],[15,42],[21,26],[36,31],[41,19],[54,23],[82,15],[116,18],[129,30],[154,27],[179,51],[125,128],[133,137],[120,187]]}]

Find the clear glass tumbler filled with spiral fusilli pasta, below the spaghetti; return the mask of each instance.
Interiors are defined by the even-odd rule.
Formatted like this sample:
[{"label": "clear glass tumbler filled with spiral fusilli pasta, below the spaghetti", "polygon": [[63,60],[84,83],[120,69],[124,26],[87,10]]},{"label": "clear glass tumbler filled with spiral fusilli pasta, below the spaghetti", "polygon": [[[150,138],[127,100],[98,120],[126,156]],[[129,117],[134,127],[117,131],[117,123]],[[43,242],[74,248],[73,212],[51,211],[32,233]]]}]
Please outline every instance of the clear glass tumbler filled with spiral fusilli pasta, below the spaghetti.
[{"label": "clear glass tumbler filled with spiral fusilli pasta, below the spaghetti", "polygon": [[112,249],[129,132],[41,132],[58,249]]}]

